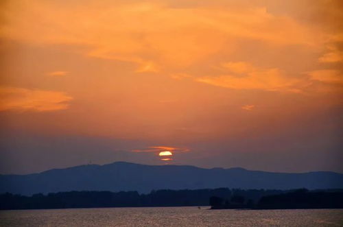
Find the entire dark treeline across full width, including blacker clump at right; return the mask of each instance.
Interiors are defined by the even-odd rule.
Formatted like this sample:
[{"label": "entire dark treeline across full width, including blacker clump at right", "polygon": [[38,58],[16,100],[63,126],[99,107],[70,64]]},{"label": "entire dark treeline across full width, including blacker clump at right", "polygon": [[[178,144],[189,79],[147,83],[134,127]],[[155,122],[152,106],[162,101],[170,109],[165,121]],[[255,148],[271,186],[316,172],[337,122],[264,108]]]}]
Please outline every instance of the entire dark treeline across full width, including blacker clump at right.
[{"label": "entire dark treeline across full width, including blacker clump at right", "polygon": [[[32,196],[4,193],[0,195],[0,209],[209,205],[212,208],[338,208],[338,204],[341,207],[343,204],[342,195],[343,190],[309,192],[227,188],[158,190],[148,194],[137,191],[69,191]],[[311,206],[294,206],[298,202]]]}]

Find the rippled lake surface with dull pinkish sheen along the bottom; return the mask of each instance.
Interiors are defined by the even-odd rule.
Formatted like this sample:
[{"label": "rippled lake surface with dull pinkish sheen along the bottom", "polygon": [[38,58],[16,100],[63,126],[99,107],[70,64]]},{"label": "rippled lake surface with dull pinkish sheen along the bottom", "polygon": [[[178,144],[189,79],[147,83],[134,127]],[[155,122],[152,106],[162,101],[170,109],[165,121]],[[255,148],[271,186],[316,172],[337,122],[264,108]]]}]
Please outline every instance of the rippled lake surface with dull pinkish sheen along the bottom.
[{"label": "rippled lake surface with dull pinkish sheen along the bottom", "polygon": [[342,209],[206,210],[209,207],[0,211],[0,226],[343,226]]}]

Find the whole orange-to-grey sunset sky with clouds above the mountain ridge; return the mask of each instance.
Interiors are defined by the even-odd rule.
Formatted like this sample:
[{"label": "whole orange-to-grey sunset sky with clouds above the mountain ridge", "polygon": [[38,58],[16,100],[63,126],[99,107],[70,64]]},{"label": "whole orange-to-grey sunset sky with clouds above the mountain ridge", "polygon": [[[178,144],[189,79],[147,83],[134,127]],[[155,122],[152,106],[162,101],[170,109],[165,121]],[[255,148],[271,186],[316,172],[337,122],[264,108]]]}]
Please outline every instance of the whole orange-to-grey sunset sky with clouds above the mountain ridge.
[{"label": "whole orange-to-grey sunset sky with clouds above the mountain ridge", "polygon": [[1,1],[0,174],[343,172],[342,21],[340,0]]}]

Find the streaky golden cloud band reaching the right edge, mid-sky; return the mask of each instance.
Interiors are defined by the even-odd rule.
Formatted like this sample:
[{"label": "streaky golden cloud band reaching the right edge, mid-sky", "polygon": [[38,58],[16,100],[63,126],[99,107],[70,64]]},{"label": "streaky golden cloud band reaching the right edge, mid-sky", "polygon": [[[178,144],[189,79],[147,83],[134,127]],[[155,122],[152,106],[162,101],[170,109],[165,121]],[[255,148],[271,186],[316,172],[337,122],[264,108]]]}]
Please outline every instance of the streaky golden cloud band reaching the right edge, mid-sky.
[{"label": "streaky golden cloud band reaching the right edge, mid-sky", "polygon": [[323,82],[333,86],[343,85],[342,72],[335,69],[310,71],[306,73],[310,77],[290,77],[280,69],[261,69],[253,67],[247,62],[228,62],[222,64],[222,66],[228,70],[228,74],[198,77],[196,81],[235,90],[279,91],[287,93],[329,91],[327,87],[315,86],[311,88],[313,82]]}]

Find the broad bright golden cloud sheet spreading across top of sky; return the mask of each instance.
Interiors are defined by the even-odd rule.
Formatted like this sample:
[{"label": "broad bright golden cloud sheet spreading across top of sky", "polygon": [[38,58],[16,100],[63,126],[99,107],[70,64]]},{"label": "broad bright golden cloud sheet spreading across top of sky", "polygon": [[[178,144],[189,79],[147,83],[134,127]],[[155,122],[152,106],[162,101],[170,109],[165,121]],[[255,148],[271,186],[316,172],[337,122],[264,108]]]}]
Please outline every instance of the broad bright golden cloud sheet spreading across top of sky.
[{"label": "broad bright golden cloud sheet spreading across top of sky", "polygon": [[321,45],[324,40],[317,28],[254,4],[171,8],[167,1],[86,1],[73,6],[8,3],[1,36],[39,45],[84,46],[86,56],[134,62],[137,72],[196,64],[221,56],[223,47],[225,53],[237,49],[244,39],[274,45]]}]

